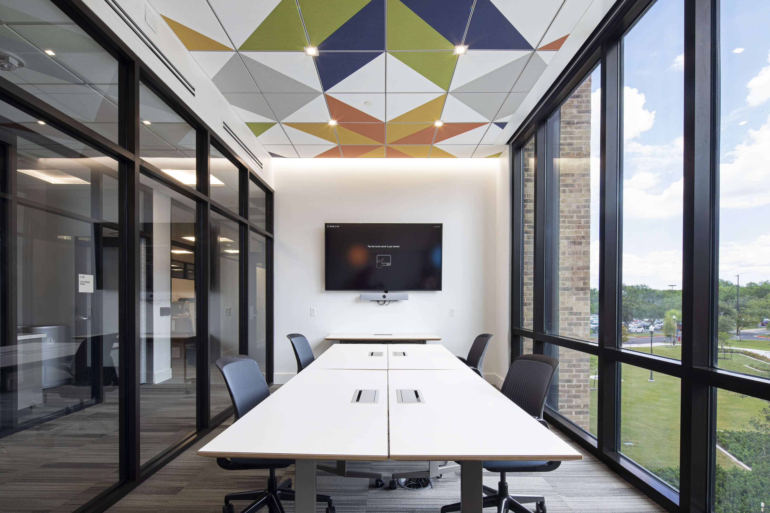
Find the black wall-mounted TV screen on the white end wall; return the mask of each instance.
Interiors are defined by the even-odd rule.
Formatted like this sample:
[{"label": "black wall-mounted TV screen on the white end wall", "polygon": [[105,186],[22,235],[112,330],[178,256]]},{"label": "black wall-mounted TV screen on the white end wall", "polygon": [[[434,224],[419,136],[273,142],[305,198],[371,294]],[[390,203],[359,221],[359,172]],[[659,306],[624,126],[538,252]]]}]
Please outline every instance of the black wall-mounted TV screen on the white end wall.
[{"label": "black wall-mounted TV screen on the white end wall", "polygon": [[326,223],[326,290],[441,290],[443,226]]}]

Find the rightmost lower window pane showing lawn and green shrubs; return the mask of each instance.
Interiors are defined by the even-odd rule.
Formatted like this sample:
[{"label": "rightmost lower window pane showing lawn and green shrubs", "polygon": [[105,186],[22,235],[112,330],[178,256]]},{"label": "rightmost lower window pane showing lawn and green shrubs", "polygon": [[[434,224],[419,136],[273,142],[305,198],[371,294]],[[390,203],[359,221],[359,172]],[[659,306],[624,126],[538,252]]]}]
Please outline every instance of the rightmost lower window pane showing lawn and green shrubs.
[{"label": "rightmost lower window pane showing lawn and green shrubs", "polygon": [[744,513],[768,507],[770,402],[717,389],[715,438],[715,512]]}]

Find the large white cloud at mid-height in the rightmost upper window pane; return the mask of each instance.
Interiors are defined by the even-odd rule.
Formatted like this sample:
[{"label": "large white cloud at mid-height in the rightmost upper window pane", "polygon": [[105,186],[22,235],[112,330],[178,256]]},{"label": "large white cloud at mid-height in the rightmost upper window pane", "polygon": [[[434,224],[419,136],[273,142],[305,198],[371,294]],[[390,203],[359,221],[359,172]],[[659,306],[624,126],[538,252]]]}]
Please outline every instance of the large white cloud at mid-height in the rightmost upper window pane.
[{"label": "large white cloud at mid-height in the rightmost upper window pane", "polygon": [[[768,74],[770,76],[770,74]],[[732,162],[719,166],[721,208],[750,208],[770,203],[770,117],[758,130],[748,130],[748,141],[725,156]]]}]

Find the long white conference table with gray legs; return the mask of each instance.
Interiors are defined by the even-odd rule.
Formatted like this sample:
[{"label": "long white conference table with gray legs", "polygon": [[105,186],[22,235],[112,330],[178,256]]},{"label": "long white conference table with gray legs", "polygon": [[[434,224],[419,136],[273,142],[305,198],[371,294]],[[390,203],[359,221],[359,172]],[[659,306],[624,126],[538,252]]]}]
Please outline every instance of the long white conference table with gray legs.
[{"label": "long white conference table with gray legs", "polygon": [[[462,511],[482,513],[482,461],[582,459],[443,346],[387,345],[387,369],[350,368],[382,365],[368,362],[384,355],[368,356],[365,349],[345,345],[320,356],[198,454],[295,459],[297,513],[316,511],[316,460],[460,461]],[[392,351],[407,351],[422,363],[402,368],[399,358],[405,357],[394,361]],[[454,362],[447,355],[461,366],[450,367]],[[322,368],[335,361],[342,368]],[[378,402],[353,402],[357,389],[379,391]],[[422,402],[399,403],[399,390],[419,390]],[[484,416],[489,411],[498,426],[492,431]],[[452,419],[451,427],[437,430],[438,419]],[[498,436],[500,428],[505,436]],[[415,436],[420,431],[425,436]]]}]

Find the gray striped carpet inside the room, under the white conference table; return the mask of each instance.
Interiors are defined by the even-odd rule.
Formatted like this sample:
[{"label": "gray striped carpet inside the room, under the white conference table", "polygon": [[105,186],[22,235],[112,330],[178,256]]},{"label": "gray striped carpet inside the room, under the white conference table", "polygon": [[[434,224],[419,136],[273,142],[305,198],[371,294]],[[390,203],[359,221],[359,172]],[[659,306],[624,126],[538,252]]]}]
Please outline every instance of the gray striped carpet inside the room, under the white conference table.
[{"label": "gray striped carpet inside the room, under the white conference table", "polygon": [[[226,422],[229,425],[230,421]],[[196,455],[196,450],[226,428],[223,425],[203,441],[179,455],[156,475],[139,485],[126,498],[109,509],[109,513],[152,513],[155,511],[185,511],[186,513],[219,513],[226,493],[263,488],[268,471],[225,471],[213,458]],[[450,427],[449,427],[450,428]],[[562,438],[558,431],[554,431]],[[497,430],[490,428],[490,436]],[[569,441],[571,443],[571,441]],[[574,445],[574,444],[571,444]],[[540,474],[509,475],[511,493],[537,492],[546,497],[549,513],[589,511],[591,513],[663,513],[663,509],[633,486],[614,474],[597,459],[584,451],[583,461],[567,461],[556,471]],[[381,471],[387,479],[393,471],[424,468],[427,463],[403,461],[350,462],[350,469]],[[276,471],[280,478],[293,478],[293,465]],[[484,484],[497,487],[499,475],[484,473]],[[331,495],[340,513],[393,511],[432,511],[438,513],[442,505],[460,500],[460,473],[434,479],[434,488],[425,491],[370,488],[367,479],[340,478],[318,472],[318,492]],[[247,502],[236,502],[236,511]],[[292,502],[284,503],[286,512],[294,511]],[[318,504],[316,511],[324,511]],[[266,510],[263,510],[266,511]],[[489,509],[488,511],[493,511]]]}]

